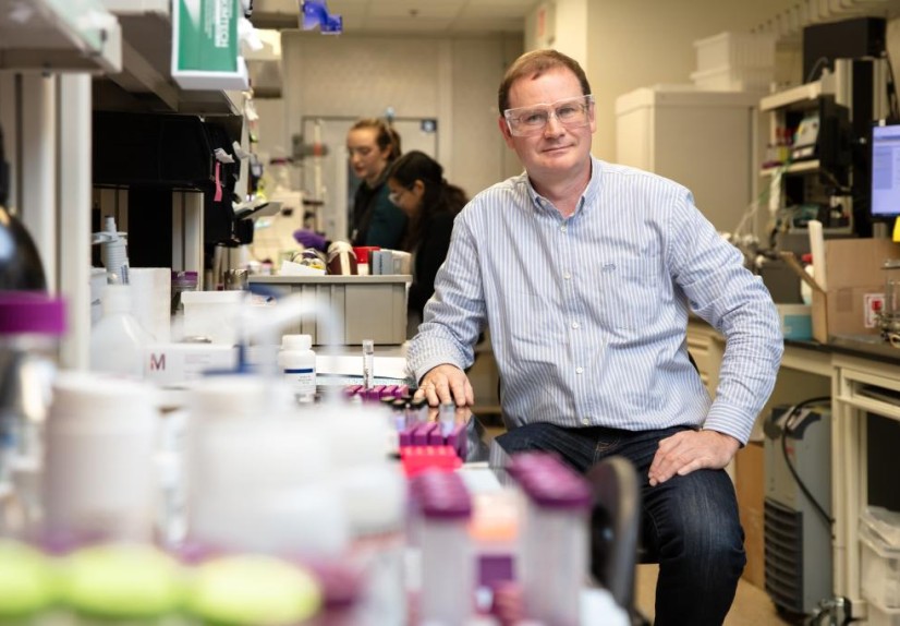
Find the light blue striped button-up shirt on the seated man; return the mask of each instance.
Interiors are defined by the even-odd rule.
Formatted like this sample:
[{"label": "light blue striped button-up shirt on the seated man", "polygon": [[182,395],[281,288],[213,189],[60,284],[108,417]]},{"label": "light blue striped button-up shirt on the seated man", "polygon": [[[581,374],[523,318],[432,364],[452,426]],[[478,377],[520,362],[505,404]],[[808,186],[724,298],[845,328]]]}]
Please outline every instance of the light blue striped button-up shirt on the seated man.
[{"label": "light blue striped button-up shirt on the seated man", "polygon": [[[592,161],[569,218],[524,173],[469,203],[410,344],[411,372],[470,366],[487,325],[508,424],[690,424],[746,443],[783,350],[767,289],[688,189]],[[714,402],[688,360],[689,311],[727,340]]]}]

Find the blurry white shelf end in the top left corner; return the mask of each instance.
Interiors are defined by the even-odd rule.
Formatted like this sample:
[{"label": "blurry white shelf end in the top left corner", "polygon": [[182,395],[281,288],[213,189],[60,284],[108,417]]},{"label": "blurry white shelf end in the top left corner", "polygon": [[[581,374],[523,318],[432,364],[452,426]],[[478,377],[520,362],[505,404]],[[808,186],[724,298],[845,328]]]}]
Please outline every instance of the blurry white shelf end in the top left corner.
[{"label": "blurry white shelf end in the top left corner", "polygon": [[119,22],[99,0],[0,0],[0,69],[114,73]]}]

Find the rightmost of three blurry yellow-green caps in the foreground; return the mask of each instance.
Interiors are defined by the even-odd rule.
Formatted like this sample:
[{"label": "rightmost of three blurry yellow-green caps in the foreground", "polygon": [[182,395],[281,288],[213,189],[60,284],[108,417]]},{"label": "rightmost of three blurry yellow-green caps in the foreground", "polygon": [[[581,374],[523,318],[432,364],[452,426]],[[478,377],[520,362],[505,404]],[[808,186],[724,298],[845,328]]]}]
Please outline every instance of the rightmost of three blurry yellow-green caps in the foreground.
[{"label": "rightmost of three blurry yellow-green caps in the foreground", "polygon": [[216,558],[194,571],[187,614],[197,625],[295,626],[320,610],[319,583],[279,558],[243,554]]}]

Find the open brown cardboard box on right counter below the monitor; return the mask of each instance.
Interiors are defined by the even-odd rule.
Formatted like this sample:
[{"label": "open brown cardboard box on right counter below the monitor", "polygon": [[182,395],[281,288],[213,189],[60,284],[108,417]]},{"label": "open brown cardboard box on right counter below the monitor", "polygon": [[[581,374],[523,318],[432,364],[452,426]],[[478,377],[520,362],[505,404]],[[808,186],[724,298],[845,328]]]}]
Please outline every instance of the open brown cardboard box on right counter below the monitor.
[{"label": "open brown cardboard box on right counter below the monitor", "polygon": [[888,258],[900,258],[900,244],[888,239],[826,240],[826,290],[803,270],[792,253],[781,256],[813,288],[813,339],[827,344],[832,335],[878,334],[868,306],[874,298],[883,297],[881,266]]}]

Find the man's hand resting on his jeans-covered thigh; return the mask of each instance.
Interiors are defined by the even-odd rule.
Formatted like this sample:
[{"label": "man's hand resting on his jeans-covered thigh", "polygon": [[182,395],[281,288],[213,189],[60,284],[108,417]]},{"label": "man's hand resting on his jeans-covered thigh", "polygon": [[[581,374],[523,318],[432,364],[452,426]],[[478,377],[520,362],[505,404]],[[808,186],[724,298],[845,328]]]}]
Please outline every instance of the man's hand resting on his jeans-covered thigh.
[{"label": "man's hand resting on his jeans-covered thigh", "polygon": [[721,469],[741,444],[716,431],[682,431],[659,442],[647,474],[650,486],[698,469]]}]

